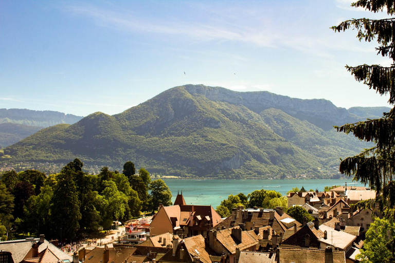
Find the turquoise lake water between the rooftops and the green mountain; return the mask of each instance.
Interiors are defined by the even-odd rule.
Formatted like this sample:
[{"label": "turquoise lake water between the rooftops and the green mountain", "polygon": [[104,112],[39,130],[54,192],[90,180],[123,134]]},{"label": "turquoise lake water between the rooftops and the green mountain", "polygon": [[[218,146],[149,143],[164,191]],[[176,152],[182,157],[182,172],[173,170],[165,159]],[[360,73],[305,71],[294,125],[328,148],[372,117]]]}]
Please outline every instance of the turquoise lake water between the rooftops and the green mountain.
[{"label": "turquoise lake water between the rooftops and the green mountain", "polygon": [[187,204],[211,205],[216,208],[228,195],[245,195],[255,190],[275,190],[282,195],[290,191],[293,187],[303,186],[304,189],[318,189],[324,191],[325,186],[332,185],[355,185],[364,186],[360,182],[352,182],[348,179],[308,179],[308,180],[192,180],[192,179],[165,179],[173,195],[174,202],[177,192],[183,191],[183,196]]}]

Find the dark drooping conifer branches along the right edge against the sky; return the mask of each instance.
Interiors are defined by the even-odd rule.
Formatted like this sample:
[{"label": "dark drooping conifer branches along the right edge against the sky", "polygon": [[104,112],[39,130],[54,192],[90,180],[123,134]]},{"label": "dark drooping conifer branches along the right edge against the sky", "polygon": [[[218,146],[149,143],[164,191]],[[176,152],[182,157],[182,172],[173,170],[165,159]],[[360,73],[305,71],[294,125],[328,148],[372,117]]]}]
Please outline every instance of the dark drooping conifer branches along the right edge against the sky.
[{"label": "dark drooping conifer branches along the right edge against the sky", "polygon": [[[378,54],[388,57],[391,65],[346,66],[358,82],[380,95],[388,95],[390,104],[395,103],[395,2],[384,0],[360,0],[353,7],[362,7],[371,12],[386,12],[388,17],[375,20],[358,18],[346,20],[332,27],[335,32],[353,29],[360,41],[377,41]],[[360,154],[340,162],[339,171],[353,176],[376,191],[375,201],[380,209],[393,208],[395,204],[395,108],[384,113],[380,119],[349,123],[336,127],[338,132],[351,133],[355,137],[373,142],[375,145]]]}]

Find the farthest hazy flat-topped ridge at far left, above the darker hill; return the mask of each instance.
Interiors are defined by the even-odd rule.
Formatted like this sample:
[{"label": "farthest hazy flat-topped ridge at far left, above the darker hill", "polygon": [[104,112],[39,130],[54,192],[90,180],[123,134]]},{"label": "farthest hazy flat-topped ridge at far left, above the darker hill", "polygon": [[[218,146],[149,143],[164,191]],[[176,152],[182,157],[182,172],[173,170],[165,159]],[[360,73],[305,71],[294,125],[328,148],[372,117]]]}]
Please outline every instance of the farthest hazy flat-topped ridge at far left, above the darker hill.
[{"label": "farthest hazy flat-topped ridge at far left, above the darker hill", "polygon": [[83,117],[52,110],[0,109],[0,123],[49,127],[60,123],[73,124]]}]

